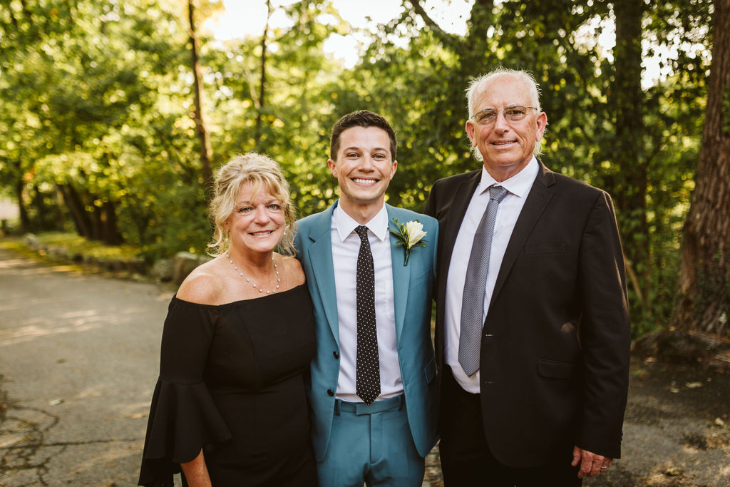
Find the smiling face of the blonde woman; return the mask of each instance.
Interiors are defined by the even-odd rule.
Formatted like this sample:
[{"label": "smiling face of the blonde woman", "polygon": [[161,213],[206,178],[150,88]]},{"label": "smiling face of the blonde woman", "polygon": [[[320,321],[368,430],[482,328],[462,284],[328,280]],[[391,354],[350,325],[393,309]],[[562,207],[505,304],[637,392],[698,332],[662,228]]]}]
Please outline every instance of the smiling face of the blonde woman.
[{"label": "smiling face of the blonde woman", "polygon": [[284,236],[283,204],[262,186],[246,182],[241,185],[233,213],[226,220],[231,234],[232,253],[270,253]]}]

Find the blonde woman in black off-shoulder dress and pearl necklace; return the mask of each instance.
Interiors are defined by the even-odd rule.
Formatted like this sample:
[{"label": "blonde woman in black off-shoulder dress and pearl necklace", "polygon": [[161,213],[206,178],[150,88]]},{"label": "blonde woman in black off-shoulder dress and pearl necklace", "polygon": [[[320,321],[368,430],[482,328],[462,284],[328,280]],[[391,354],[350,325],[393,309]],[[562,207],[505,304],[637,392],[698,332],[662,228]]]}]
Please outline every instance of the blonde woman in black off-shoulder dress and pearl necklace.
[{"label": "blonde woman in black off-shoulder dress and pearl necklace", "polygon": [[169,305],[141,486],[316,486],[303,373],[312,303],[279,165],[249,153],[216,175],[215,258]]}]

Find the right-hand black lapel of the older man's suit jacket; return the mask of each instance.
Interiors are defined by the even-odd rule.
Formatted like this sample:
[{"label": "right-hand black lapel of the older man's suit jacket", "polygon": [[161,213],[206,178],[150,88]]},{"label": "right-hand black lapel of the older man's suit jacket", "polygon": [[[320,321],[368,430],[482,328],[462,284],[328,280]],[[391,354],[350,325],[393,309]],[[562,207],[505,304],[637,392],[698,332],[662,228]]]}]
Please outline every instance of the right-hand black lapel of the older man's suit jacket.
[{"label": "right-hand black lapel of the older man's suit jacket", "polygon": [[525,244],[525,240],[531,233],[540,215],[542,215],[545,207],[548,206],[548,202],[553,197],[554,190],[550,186],[555,183],[555,175],[542,162],[539,165],[540,169],[537,172],[537,177],[535,177],[534,183],[532,183],[532,188],[527,195],[525,205],[522,207],[520,216],[517,218],[515,229],[512,230],[512,237],[510,237],[510,242],[507,244],[507,249],[504,250],[502,266],[499,267],[499,274],[497,275],[496,283],[494,283],[491,302],[494,302],[496,296],[499,295],[499,290],[502,289],[504,280],[510,274],[512,264],[515,263],[515,259]]}]

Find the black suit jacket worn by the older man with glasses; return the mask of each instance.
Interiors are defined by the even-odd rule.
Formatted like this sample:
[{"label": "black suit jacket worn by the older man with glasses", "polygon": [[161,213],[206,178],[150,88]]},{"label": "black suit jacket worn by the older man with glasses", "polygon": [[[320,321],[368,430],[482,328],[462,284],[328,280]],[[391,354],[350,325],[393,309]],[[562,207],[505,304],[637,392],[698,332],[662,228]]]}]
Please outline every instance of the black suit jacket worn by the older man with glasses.
[{"label": "black suit jacket worn by the older man with glasses", "polygon": [[[630,325],[613,205],[606,192],[539,165],[484,323],[485,437],[496,459],[510,467],[564,461],[573,445],[618,458]],[[481,169],[438,180],[426,203],[441,229],[439,371],[451,253],[480,177]]]}]

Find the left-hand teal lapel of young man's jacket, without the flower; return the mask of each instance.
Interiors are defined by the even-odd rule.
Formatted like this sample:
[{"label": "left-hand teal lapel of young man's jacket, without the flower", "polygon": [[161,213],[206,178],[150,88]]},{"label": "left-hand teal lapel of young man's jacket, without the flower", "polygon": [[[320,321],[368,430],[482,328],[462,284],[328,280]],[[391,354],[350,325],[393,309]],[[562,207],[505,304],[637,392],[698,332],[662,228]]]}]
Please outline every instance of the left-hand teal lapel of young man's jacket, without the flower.
[{"label": "left-hand teal lapel of young man's jacket, without the flower", "polygon": [[[312,263],[312,272],[315,276],[317,289],[319,291],[319,299],[327,317],[327,322],[334,336],[334,340],[339,346],[339,321],[337,318],[337,291],[334,282],[334,262],[332,261],[332,237],[331,237],[331,221],[332,212],[337,202],[334,202],[328,210],[320,213],[320,219],[317,224],[310,229],[309,238],[312,245],[307,253]],[[312,296],[314,299],[314,296]]]}]

